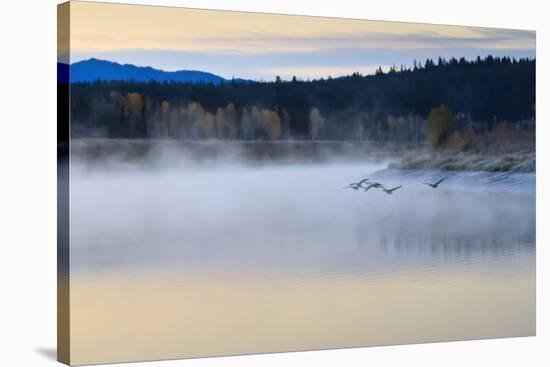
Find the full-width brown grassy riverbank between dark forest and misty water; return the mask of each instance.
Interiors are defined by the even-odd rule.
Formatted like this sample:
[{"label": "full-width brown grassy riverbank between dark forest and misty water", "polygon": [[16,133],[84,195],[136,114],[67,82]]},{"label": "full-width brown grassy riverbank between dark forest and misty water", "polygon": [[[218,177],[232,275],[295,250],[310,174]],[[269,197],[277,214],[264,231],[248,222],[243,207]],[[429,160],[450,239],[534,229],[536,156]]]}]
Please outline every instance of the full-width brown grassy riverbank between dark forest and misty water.
[{"label": "full-width brown grassy riverbank between dark forest and misty water", "polygon": [[535,172],[534,142],[478,141],[464,149],[434,150],[426,143],[355,141],[177,141],[73,139],[72,159],[93,165],[125,163],[172,166],[188,163],[376,162],[391,169]]}]

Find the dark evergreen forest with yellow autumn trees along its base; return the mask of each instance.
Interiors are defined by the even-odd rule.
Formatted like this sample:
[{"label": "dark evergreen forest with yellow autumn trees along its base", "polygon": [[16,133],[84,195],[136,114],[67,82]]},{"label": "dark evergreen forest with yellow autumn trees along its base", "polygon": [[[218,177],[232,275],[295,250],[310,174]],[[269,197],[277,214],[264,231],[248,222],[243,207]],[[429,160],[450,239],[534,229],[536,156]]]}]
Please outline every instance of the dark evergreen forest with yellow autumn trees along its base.
[{"label": "dark evergreen forest with yellow autumn trees along its base", "polygon": [[467,135],[535,124],[535,59],[428,59],[316,80],[98,80],[70,88],[73,138],[428,139],[436,145],[450,130]]}]

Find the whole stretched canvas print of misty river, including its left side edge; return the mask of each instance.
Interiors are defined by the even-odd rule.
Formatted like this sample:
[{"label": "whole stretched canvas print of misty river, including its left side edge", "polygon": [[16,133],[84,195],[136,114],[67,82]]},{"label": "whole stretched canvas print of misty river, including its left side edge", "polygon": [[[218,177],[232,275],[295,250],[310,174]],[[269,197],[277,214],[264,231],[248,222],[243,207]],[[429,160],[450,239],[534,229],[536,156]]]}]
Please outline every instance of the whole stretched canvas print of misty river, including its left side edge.
[{"label": "whole stretched canvas print of misty river, including its left side edge", "polygon": [[66,364],[535,334],[535,32],[58,6]]}]

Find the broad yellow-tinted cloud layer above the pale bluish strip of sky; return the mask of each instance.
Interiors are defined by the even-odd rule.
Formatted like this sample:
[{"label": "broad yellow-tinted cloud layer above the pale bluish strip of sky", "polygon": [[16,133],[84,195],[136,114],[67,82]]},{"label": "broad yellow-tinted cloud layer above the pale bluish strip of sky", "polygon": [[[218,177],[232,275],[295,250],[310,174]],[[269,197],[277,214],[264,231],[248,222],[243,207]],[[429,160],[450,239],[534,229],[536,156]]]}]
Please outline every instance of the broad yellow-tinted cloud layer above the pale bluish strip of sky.
[{"label": "broad yellow-tinted cloud layer above the pale bluish strip of sky", "polygon": [[349,48],[535,48],[532,31],[75,2],[71,47],[258,54]]}]

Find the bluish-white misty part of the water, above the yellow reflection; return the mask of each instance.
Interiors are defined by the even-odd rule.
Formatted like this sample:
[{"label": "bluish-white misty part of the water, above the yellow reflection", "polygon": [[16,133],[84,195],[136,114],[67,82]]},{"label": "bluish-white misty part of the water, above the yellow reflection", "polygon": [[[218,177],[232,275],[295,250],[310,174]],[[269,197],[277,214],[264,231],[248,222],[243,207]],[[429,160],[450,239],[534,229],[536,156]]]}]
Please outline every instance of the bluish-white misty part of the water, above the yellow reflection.
[{"label": "bluish-white misty part of the water, above the yellow reflection", "polygon": [[[534,242],[531,174],[400,172],[368,161],[178,162],[86,170],[73,160],[73,270],[347,272],[529,252]],[[403,188],[344,189],[364,177]],[[442,177],[436,190],[423,184]]]}]

